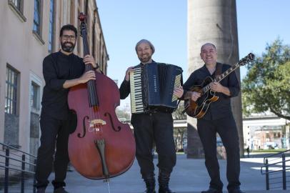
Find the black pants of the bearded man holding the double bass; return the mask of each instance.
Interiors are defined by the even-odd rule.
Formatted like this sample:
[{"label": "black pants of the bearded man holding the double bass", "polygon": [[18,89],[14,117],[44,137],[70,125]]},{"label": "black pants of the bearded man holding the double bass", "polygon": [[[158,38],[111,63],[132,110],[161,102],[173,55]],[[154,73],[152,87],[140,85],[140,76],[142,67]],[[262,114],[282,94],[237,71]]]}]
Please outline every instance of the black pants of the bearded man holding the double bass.
[{"label": "black pants of the bearded man holding the double bass", "polygon": [[[54,162],[55,179],[54,186],[65,186],[66,169],[69,164],[68,121],[41,114],[40,147],[36,163],[36,187],[46,187],[49,184],[48,178],[51,174],[52,163]],[[54,154],[56,149],[56,153]]]}]

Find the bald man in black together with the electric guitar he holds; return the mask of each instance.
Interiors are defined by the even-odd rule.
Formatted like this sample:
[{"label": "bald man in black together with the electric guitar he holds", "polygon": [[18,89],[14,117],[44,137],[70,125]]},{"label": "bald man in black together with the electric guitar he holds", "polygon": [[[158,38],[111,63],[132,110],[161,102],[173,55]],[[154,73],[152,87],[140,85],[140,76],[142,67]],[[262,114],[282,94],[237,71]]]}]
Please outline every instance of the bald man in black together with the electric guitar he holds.
[{"label": "bald man in black together with the electric guitar he holds", "polygon": [[[231,97],[240,91],[234,69],[254,59],[253,54],[234,66],[217,62],[216,46],[211,43],[201,46],[201,59],[204,66],[194,71],[175,94],[184,99],[184,112],[197,118],[197,130],[204,147],[206,169],[211,177],[209,189],[201,193],[221,193],[223,183],[219,174],[216,157],[216,133],[226,148],[229,193],[242,193],[239,182],[240,157],[239,136],[236,122],[231,112]],[[199,86],[196,86],[199,85]]]}]

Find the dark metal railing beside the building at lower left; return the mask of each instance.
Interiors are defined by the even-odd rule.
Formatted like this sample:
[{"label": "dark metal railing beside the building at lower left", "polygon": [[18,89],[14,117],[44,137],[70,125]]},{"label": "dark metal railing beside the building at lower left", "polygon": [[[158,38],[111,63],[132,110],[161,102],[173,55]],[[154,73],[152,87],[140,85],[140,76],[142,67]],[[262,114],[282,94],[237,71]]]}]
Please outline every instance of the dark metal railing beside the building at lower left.
[{"label": "dark metal railing beside the building at lower left", "polygon": [[35,193],[36,156],[1,142],[0,145],[0,190],[4,189],[4,193],[24,193],[24,190]]}]

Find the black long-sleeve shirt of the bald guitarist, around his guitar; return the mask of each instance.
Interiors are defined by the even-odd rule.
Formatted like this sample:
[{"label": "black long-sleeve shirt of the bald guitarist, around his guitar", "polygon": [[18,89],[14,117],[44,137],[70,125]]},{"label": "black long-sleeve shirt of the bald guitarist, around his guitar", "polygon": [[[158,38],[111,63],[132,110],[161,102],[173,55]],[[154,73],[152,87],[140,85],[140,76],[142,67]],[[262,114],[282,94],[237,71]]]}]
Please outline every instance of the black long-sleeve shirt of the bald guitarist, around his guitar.
[{"label": "black long-sleeve shirt of the bald guitarist, around his guitar", "polygon": [[[229,69],[231,66],[229,64],[223,64],[221,73]],[[214,76],[216,75],[216,71],[214,74],[210,74],[209,70],[206,68],[206,65],[202,66],[200,69],[197,69],[194,71],[190,76],[189,79],[184,83],[184,93],[185,91],[189,91],[191,86],[194,85],[201,85],[206,79],[206,77],[211,76],[212,79],[214,79]],[[235,72],[231,72],[226,78],[221,80],[219,82],[221,85],[226,86],[229,88],[229,91],[231,93],[231,96],[227,96],[226,94],[216,92],[216,96],[219,97],[219,99],[216,102],[211,102],[209,105],[209,109],[207,110],[204,117],[201,119],[206,120],[215,120],[215,119],[221,119],[224,117],[229,116],[232,114],[231,112],[231,97],[236,97],[239,94],[240,91],[240,85],[239,81],[236,77]]]}]

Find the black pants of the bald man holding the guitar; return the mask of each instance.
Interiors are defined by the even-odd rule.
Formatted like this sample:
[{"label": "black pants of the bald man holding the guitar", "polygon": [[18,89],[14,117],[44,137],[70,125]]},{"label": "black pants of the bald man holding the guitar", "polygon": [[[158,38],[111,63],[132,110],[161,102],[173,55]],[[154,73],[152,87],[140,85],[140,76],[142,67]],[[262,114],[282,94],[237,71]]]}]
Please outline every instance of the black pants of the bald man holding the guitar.
[{"label": "black pants of the bald man holding the guitar", "polygon": [[211,177],[210,187],[221,190],[223,183],[219,175],[219,162],[216,157],[216,132],[226,148],[226,178],[228,189],[239,187],[240,157],[239,157],[239,136],[236,129],[234,117],[217,120],[197,120],[197,129],[201,143],[204,146],[206,169]]}]

